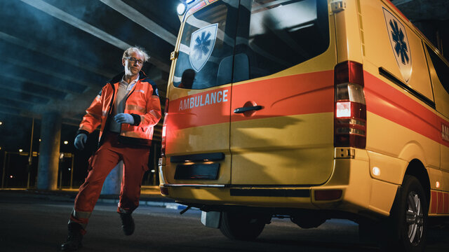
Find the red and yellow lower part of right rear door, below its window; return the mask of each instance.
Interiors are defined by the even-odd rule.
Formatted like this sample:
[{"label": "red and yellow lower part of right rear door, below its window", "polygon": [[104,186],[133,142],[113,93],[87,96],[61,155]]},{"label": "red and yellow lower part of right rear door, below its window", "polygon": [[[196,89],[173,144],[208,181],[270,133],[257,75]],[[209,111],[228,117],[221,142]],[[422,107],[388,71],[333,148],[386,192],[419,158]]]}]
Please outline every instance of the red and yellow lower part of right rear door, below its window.
[{"label": "red and yellow lower part of right rear door, below its window", "polygon": [[232,113],[232,184],[310,185],[329,178],[333,71],[234,85],[232,92],[232,111],[246,102],[263,106],[251,116]]}]

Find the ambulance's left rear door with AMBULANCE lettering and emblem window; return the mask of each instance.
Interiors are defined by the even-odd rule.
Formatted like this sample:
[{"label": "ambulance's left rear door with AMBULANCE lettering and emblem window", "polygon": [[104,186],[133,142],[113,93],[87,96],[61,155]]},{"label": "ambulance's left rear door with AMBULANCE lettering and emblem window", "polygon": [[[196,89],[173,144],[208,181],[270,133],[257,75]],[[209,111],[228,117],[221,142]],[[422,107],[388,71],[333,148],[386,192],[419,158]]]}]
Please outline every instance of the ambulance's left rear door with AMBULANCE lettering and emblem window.
[{"label": "ambulance's left rear door with AMBULANCE lettering and emblem window", "polygon": [[233,3],[201,1],[190,10],[198,11],[186,16],[169,87],[166,183],[230,183],[229,112],[238,7]]}]

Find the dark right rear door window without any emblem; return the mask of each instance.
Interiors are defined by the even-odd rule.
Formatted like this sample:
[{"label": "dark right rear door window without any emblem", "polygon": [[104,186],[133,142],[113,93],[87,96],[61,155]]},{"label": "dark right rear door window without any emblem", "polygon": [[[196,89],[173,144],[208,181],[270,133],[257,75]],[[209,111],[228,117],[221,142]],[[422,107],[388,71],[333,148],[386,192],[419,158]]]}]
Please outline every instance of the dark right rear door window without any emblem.
[{"label": "dark right rear door window without any emblem", "polygon": [[[316,57],[327,50],[329,40],[326,0],[242,0],[234,82],[267,76]],[[242,69],[249,72],[239,73]]]}]

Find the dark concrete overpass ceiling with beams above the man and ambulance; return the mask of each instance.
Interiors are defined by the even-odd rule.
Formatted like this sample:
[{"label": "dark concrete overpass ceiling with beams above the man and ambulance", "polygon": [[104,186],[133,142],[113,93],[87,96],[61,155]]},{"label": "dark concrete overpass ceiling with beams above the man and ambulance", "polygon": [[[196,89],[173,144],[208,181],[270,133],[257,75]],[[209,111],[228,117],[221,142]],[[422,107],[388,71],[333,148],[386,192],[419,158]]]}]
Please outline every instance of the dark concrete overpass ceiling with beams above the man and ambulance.
[{"label": "dark concrete overpass ceiling with beams above the man and ambulance", "polygon": [[[392,2],[412,21],[448,22],[447,0]],[[8,121],[28,122],[50,111],[61,113],[64,124],[78,125],[100,88],[123,71],[121,54],[130,45],[148,50],[151,59],[144,70],[164,96],[180,26],[178,3],[1,0],[1,134],[6,134]],[[448,28],[442,34],[448,34]],[[0,137],[0,146],[6,141]]]}]

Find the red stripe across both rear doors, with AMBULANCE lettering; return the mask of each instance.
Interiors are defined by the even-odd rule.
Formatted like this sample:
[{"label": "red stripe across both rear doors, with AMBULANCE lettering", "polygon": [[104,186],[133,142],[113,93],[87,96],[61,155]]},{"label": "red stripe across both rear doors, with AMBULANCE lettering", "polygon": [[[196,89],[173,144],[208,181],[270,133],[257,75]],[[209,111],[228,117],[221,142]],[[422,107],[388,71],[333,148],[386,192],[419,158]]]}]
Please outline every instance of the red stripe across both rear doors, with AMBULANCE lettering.
[{"label": "red stripe across both rear doors, with AMBULANCE lettering", "polygon": [[[211,102],[212,95],[217,95],[218,92],[221,93],[221,99],[224,99],[226,93],[225,102]],[[169,130],[229,123],[229,112],[232,114],[232,121],[333,112],[333,71],[302,73],[234,85],[232,96],[232,108],[231,87],[170,100],[167,117]],[[251,117],[233,113],[234,109],[243,106],[250,99],[257,105],[264,106],[264,109]]]}]

